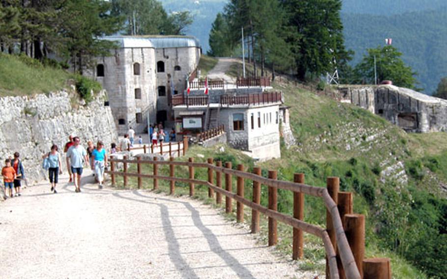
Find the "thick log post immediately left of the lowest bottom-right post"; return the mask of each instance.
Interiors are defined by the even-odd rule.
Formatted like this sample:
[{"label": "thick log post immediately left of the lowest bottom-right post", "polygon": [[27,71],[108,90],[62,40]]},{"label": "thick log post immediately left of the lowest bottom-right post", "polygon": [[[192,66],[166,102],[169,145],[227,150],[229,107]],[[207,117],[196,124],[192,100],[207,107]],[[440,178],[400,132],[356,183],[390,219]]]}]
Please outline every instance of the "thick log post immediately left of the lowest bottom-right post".
[{"label": "thick log post immediately left of the lowest bottom-right post", "polygon": [[[341,214],[341,213],[340,213]],[[363,214],[345,214],[344,230],[360,276],[363,277],[365,256],[365,216]]]}]

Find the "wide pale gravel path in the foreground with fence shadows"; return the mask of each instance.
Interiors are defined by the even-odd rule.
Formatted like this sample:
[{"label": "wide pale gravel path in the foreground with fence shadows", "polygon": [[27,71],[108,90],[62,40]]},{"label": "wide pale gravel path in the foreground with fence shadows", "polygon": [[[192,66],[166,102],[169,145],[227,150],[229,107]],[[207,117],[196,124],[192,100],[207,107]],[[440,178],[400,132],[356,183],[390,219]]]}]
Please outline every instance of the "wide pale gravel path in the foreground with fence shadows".
[{"label": "wide pale gravel path in the foreground with fence shadows", "polygon": [[0,203],[0,278],[312,278],[199,201],[61,180]]}]

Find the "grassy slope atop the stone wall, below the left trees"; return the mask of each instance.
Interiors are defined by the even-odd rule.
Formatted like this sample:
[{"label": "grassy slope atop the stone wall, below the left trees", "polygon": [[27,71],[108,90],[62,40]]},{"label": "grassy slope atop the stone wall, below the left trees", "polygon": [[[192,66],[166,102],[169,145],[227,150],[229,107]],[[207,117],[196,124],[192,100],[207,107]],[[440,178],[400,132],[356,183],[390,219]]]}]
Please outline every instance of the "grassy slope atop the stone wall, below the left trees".
[{"label": "grassy slope atop the stone wall, below the left trees", "polygon": [[[28,63],[26,63],[28,61]],[[0,96],[33,95],[61,89],[71,77],[66,71],[43,67],[18,56],[0,55]]]}]

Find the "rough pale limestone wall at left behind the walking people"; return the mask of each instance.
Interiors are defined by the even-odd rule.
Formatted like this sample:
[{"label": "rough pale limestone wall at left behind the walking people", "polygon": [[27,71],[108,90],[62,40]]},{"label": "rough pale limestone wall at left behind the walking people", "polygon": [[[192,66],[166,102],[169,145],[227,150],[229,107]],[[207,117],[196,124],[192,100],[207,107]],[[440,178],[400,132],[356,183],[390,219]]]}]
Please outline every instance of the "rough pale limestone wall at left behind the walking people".
[{"label": "rough pale limestone wall at left behind the walking people", "polygon": [[28,183],[32,183],[48,176],[41,167],[41,157],[52,144],[59,147],[65,171],[63,146],[69,135],[80,137],[84,147],[87,140],[102,140],[109,149],[117,133],[110,107],[104,106],[105,98],[105,92],[101,92],[86,106],[67,91],[0,98],[1,164],[19,152]]}]

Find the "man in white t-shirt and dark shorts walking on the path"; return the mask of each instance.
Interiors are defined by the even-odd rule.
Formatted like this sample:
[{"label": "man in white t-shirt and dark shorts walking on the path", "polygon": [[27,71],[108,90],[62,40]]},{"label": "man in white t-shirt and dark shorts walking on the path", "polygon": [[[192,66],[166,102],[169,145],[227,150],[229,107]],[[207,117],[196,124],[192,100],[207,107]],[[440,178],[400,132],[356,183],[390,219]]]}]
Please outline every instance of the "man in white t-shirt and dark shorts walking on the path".
[{"label": "man in white t-shirt and dark shorts walking on the path", "polygon": [[[74,182],[76,190],[75,192],[81,192],[81,176],[83,166],[88,166],[87,151],[79,144],[81,140],[78,137],[73,138],[73,146],[68,148],[67,151],[67,166],[71,167],[71,172],[76,175]],[[84,162],[83,162],[84,161]]]}]

